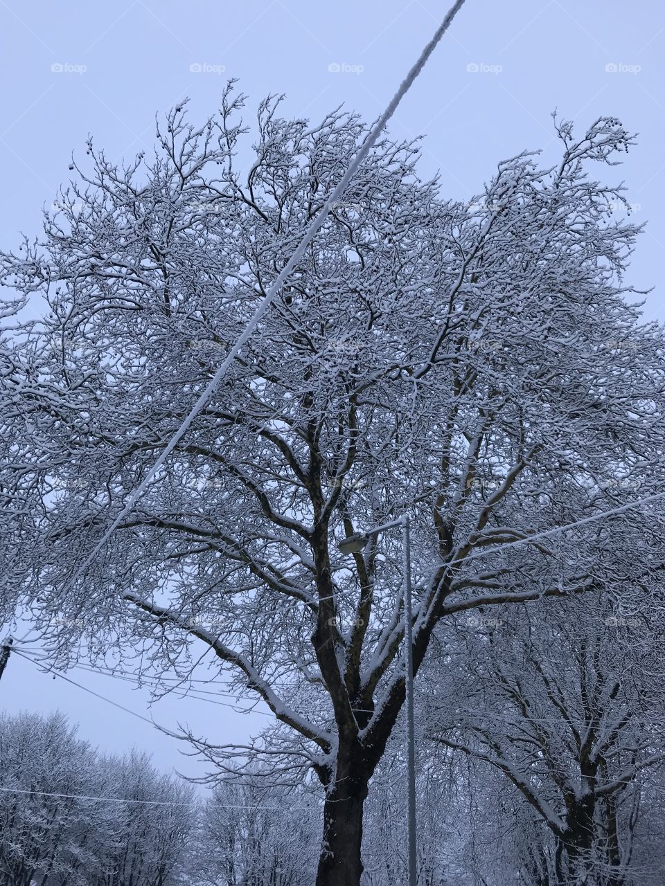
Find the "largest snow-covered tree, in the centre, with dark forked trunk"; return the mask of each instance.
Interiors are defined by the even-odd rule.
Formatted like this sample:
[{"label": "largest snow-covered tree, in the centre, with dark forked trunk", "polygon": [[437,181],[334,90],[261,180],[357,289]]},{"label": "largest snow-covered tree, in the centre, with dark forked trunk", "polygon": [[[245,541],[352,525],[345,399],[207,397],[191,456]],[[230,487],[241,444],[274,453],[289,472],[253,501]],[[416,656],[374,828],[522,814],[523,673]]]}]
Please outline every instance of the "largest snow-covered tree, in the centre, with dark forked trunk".
[{"label": "largest snow-covered tree, in the centre, with dark forked trunk", "polygon": [[587,171],[631,144],[618,120],[581,137],[559,122],[555,167],[521,153],[471,205],[442,199],[419,179],[417,145],[386,136],[78,574],[366,135],[353,114],[314,126],[267,100],[241,175],[241,105],[231,85],[200,128],[177,107],[154,157],[122,166],[90,142],[91,171],[75,167],[43,239],[2,258],[4,280],[50,306],[32,333],[42,392],[9,393],[30,411],[17,445],[37,441],[43,491],[24,592],[39,587],[35,616],[58,627],[63,660],[82,623],[93,659],[114,649],[125,666],[130,636],[144,662],[184,675],[207,649],[275,726],[247,747],[192,741],[214,775],[314,773],[317,886],[351,886],[403,707],[402,553],[395,533],[352,558],[338,540],[411,515],[417,671],[460,610],[597,587],[583,532],[567,560],[555,542],[501,548],[606,509],[599,481],[630,473],[645,437],[657,447],[661,331],[625,301],[638,229],[611,214],[621,190]]}]

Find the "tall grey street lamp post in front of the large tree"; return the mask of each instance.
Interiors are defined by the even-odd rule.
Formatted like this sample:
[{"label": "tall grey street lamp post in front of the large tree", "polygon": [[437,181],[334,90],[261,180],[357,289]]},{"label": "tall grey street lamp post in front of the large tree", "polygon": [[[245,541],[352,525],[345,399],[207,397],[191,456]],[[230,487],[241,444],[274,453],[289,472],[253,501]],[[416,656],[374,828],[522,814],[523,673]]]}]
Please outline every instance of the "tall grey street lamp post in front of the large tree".
[{"label": "tall grey street lamp post in front of the large tree", "polygon": [[416,886],[416,737],[413,719],[413,626],[411,624],[411,520],[408,515],[377,526],[365,532],[354,532],[346,539],[338,542],[340,551],[345,556],[359,554],[370,539],[379,532],[402,527],[403,539],[403,582],[404,582],[404,644],[406,646],[406,674],[404,678],[404,695],[406,702],[406,758],[408,769],[409,796],[409,886]]}]

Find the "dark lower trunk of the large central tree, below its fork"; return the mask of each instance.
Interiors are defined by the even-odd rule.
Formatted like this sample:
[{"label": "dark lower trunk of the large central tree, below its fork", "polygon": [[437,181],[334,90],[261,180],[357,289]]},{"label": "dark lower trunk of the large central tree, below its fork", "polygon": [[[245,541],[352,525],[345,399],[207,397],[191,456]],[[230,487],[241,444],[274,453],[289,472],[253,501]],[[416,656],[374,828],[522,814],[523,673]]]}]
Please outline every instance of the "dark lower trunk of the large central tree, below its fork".
[{"label": "dark lower trunk of the large central tree, below its fork", "polygon": [[317,886],[360,886],[363,862],[363,804],[367,777],[339,777],[324,806],[324,835],[318,859]]}]

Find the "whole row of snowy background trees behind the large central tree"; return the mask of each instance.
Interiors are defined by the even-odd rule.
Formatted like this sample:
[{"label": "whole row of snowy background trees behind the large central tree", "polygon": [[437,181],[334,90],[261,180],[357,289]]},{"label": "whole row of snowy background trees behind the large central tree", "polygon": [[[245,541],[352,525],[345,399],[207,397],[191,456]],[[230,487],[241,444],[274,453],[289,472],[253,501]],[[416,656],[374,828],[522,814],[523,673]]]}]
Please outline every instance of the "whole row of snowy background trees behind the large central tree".
[{"label": "whole row of snowy background trees behind the large central tree", "polygon": [[[661,638],[637,597],[631,616],[592,602],[438,633],[417,697],[419,886],[665,879]],[[145,753],[100,754],[60,713],[0,716],[0,886],[311,886],[316,785],[211,778],[202,796]],[[405,784],[400,723],[364,886],[405,882]]]}]

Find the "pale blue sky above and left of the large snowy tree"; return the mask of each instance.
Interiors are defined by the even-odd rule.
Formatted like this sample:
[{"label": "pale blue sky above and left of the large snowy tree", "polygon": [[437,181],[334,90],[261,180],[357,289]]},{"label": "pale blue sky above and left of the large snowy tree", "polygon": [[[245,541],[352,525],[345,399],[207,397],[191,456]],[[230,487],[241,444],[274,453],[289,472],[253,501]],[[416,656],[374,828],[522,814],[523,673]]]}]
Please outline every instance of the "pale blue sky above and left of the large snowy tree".
[{"label": "pale blue sky above and left of the large snowy tree", "polygon": [[[155,113],[189,96],[192,119],[202,120],[230,77],[249,97],[247,121],[268,93],[286,93],[288,115],[317,120],[344,103],[375,119],[447,7],[448,0],[0,0],[0,242],[10,247],[19,230],[37,232],[41,206],[67,180],[72,150],[84,159],[89,133],[110,158],[150,149]],[[619,117],[640,134],[638,147],[622,167],[598,173],[608,183],[624,179],[636,220],[649,220],[630,282],[656,287],[647,315],[665,319],[663,43],[662,0],[466,0],[392,131],[424,135],[423,175],[440,170],[443,194],[464,199],[481,190],[498,160],[524,148],[543,148],[544,162],[553,162],[555,108],[579,131],[600,114]],[[87,672],[71,676],[145,713],[144,691],[132,694],[130,684]],[[0,685],[0,704],[12,711],[59,706],[105,750],[136,743],[152,748],[160,766],[193,771],[174,740],[19,657]],[[154,716],[167,727],[187,721],[217,743],[248,728],[229,708],[194,700],[159,703]]]}]

